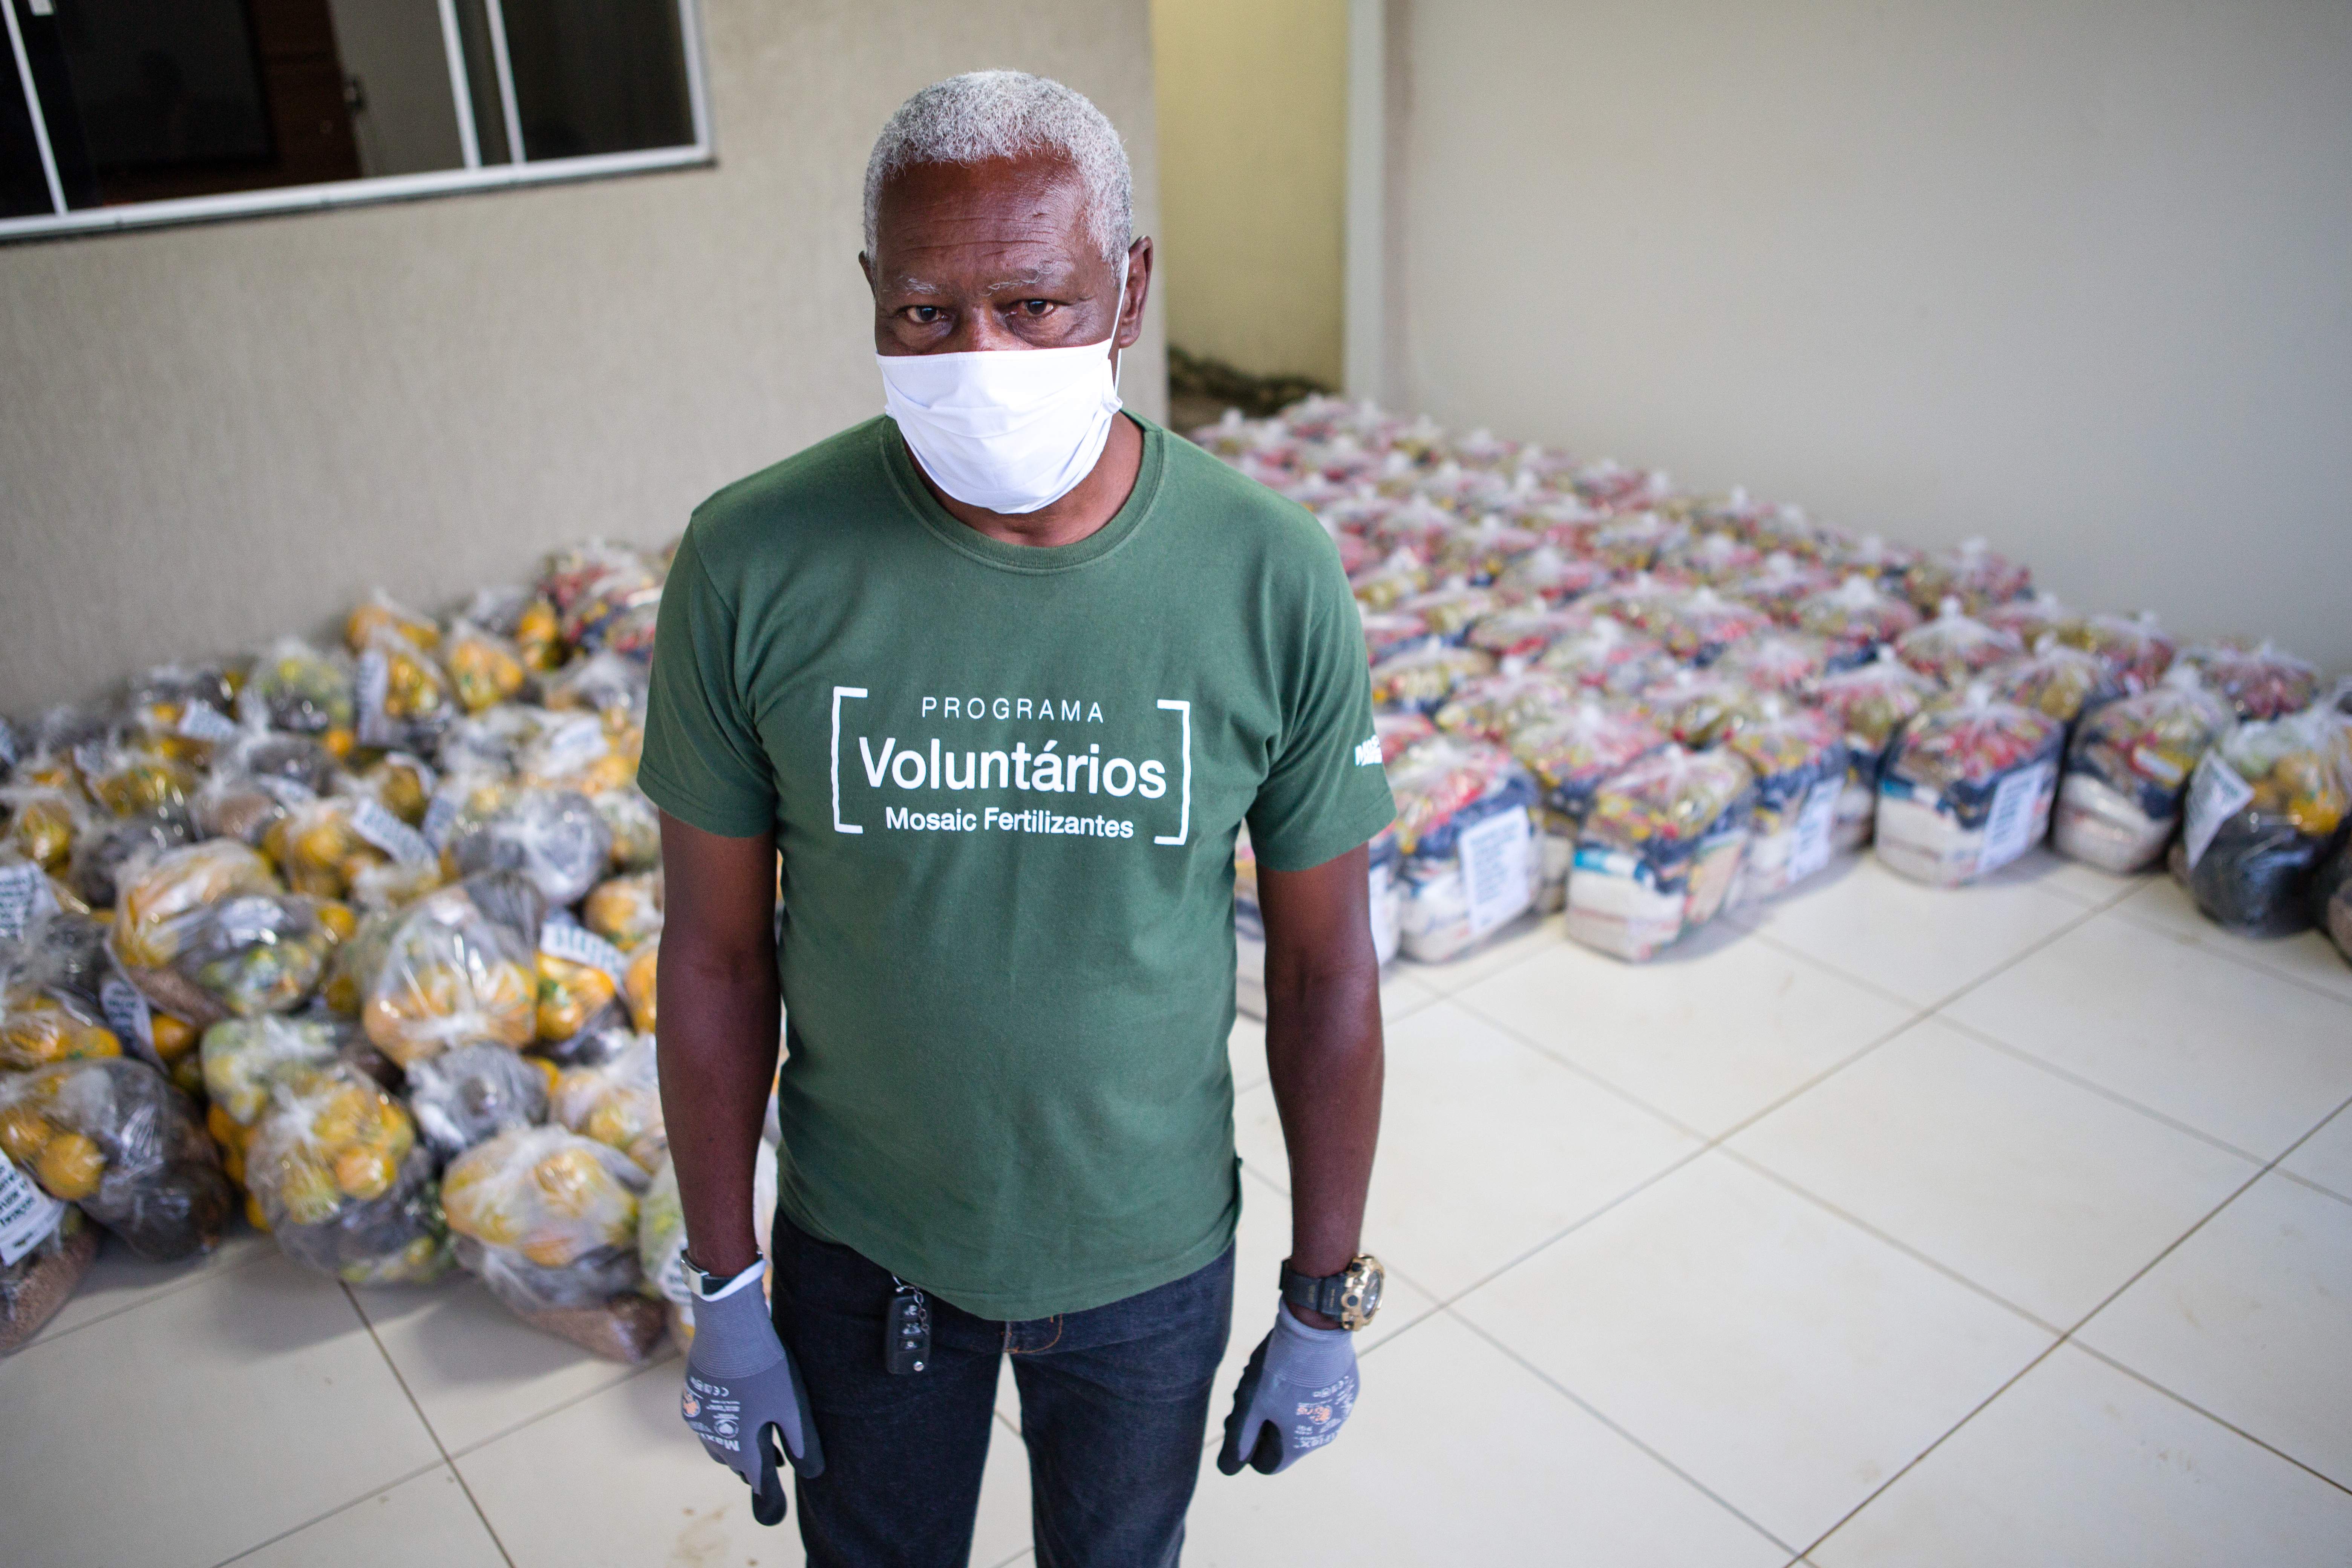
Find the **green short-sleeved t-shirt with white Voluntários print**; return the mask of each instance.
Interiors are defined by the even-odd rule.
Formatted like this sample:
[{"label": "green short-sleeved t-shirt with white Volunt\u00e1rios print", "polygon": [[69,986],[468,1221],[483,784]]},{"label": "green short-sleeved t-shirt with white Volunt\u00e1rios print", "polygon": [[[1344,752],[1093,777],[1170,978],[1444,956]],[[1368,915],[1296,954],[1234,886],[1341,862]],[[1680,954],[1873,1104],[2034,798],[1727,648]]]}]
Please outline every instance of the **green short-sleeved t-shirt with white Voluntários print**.
[{"label": "green short-sleeved t-shirt with white Volunt\u00e1rios print", "polygon": [[1331,541],[1136,423],[1033,548],[873,418],[706,501],[661,599],[640,783],[783,851],[783,1213],[990,1319],[1225,1248],[1235,827],[1303,870],[1395,816]]}]

